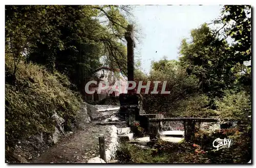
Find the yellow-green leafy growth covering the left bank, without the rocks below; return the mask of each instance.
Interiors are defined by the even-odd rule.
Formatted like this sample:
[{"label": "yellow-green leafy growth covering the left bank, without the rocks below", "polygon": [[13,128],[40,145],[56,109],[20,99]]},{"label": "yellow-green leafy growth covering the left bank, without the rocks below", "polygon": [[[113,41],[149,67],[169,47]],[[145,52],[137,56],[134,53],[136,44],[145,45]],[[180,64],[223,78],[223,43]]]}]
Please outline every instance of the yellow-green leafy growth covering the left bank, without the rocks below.
[{"label": "yellow-green leafy growth covering the left bank, without the rocks below", "polygon": [[[73,122],[81,102],[79,95],[67,88],[70,82],[66,76],[24,62],[18,68],[16,85],[5,85],[6,142],[10,147],[18,139],[53,133],[54,111],[68,123]],[[13,70],[13,59],[7,55],[6,75]]]}]

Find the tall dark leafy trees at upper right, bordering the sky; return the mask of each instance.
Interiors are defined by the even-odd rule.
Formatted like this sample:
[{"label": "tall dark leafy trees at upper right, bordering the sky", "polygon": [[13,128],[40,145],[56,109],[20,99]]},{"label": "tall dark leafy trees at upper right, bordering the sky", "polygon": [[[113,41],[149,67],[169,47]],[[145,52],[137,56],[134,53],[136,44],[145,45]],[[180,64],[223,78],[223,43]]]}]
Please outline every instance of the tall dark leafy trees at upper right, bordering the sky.
[{"label": "tall dark leafy trees at upper right, bordering the sky", "polygon": [[[226,5],[215,20],[223,25],[219,30],[203,24],[191,31],[190,42],[182,41],[180,61],[188,74],[197,76],[202,91],[211,99],[222,97],[225,90],[251,86],[251,66],[245,66],[251,60],[250,10],[250,6]],[[226,41],[228,37],[233,40],[231,44]]]}]

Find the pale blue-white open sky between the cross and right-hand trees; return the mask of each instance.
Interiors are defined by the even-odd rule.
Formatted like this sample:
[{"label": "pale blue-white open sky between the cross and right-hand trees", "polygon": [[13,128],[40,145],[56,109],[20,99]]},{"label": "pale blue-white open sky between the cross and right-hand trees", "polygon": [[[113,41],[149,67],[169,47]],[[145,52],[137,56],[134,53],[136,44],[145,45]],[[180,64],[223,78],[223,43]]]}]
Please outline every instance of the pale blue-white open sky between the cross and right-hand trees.
[{"label": "pale blue-white open sky between the cross and right-hand trees", "polygon": [[136,6],[133,14],[140,29],[141,43],[136,44],[135,59],[139,56],[145,73],[152,61],[164,56],[177,60],[182,39],[204,22],[220,16],[222,6]]}]

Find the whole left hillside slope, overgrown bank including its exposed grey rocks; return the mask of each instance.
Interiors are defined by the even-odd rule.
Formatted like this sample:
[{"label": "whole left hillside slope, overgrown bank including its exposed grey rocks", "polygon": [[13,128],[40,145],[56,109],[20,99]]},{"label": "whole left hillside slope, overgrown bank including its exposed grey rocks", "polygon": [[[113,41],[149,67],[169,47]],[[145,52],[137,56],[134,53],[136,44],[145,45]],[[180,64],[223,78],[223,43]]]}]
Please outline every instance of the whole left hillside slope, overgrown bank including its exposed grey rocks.
[{"label": "whole left hillside slope, overgrown bank including its exposed grey rocks", "polygon": [[81,99],[65,75],[21,62],[14,79],[8,55],[5,67],[6,162],[24,162],[26,153],[53,145],[54,136],[75,127]]}]

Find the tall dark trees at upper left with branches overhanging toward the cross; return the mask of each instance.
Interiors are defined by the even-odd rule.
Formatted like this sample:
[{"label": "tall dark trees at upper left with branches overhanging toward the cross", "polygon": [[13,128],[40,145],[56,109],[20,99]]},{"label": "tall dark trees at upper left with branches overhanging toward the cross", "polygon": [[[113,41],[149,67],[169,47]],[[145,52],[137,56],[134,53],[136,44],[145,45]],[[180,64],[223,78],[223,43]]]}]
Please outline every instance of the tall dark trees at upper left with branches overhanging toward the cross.
[{"label": "tall dark trees at upper left with branches overhanging toward the cross", "polygon": [[[6,6],[6,52],[68,75],[73,90],[84,94],[93,70],[106,64],[126,73],[124,32],[129,6]],[[103,21],[102,21],[103,20]],[[26,56],[25,56],[26,55]]]}]

